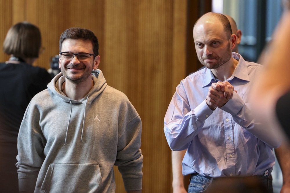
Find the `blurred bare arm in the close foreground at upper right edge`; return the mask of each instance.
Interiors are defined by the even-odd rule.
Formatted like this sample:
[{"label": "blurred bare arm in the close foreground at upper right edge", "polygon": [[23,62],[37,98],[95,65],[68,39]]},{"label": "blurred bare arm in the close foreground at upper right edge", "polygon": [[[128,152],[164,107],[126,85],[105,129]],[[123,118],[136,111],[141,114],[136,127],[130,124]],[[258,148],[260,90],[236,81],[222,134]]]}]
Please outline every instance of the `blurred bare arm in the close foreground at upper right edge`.
[{"label": "blurred bare arm in the close foreground at upper right edge", "polygon": [[289,63],[289,25],[290,12],[282,15],[278,26],[273,33],[273,41],[263,51],[258,60],[259,64],[265,66],[265,71],[261,73],[258,79],[255,79],[255,88],[253,92],[256,99],[266,98],[272,92],[273,88],[278,95],[285,93],[290,89],[288,76],[290,73]]}]

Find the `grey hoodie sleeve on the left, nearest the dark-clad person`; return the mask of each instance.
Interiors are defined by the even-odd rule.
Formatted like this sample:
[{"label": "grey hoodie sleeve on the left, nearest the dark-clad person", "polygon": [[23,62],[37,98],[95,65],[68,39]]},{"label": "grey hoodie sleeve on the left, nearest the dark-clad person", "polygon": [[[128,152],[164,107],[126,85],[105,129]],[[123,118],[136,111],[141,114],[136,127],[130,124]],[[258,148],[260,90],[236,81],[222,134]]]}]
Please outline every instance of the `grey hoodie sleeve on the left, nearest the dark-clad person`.
[{"label": "grey hoodie sleeve on the left, nearest the dark-clad person", "polygon": [[30,104],[24,114],[18,134],[18,168],[19,192],[33,192],[37,176],[44,161],[44,137],[39,126],[39,112]]}]

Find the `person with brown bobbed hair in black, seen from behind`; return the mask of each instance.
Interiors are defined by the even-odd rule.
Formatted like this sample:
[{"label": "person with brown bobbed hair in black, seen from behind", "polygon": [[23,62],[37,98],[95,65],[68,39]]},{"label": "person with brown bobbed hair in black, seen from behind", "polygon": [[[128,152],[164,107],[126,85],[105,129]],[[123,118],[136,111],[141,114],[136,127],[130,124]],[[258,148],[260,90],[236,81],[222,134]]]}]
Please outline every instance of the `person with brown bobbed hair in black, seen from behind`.
[{"label": "person with brown bobbed hair in black, seen from behind", "polygon": [[41,33],[28,22],[13,25],[3,43],[10,58],[0,63],[0,192],[18,192],[15,162],[21,120],[32,97],[52,79],[46,69],[32,66],[41,48]]}]

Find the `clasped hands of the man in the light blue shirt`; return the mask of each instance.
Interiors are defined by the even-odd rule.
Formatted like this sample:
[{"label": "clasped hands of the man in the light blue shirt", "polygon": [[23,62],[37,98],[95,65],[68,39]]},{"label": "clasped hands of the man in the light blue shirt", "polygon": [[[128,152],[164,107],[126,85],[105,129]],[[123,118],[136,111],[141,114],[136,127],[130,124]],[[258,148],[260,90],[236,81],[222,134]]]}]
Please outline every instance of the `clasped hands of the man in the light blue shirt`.
[{"label": "clasped hands of the man in the light blue shirt", "polygon": [[224,106],[233,97],[233,92],[234,87],[228,81],[212,83],[205,102],[211,110],[215,110],[216,107]]}]

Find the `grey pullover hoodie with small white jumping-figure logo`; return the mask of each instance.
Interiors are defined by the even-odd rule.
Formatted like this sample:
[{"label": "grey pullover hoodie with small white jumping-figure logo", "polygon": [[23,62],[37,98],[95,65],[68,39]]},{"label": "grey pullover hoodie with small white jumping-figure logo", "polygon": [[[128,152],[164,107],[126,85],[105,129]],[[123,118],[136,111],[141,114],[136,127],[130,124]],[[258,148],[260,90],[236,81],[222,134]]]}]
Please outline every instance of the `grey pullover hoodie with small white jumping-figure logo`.
[{"label": "grey pullover hoodie with small white jumping-figure logo", "polygon": [[59,73],[31,100],[18,135],[19,191],[115,192],[113,165],[126,190],[142,189],[141,119],[102,71],[80,101],[61,91]]}]

